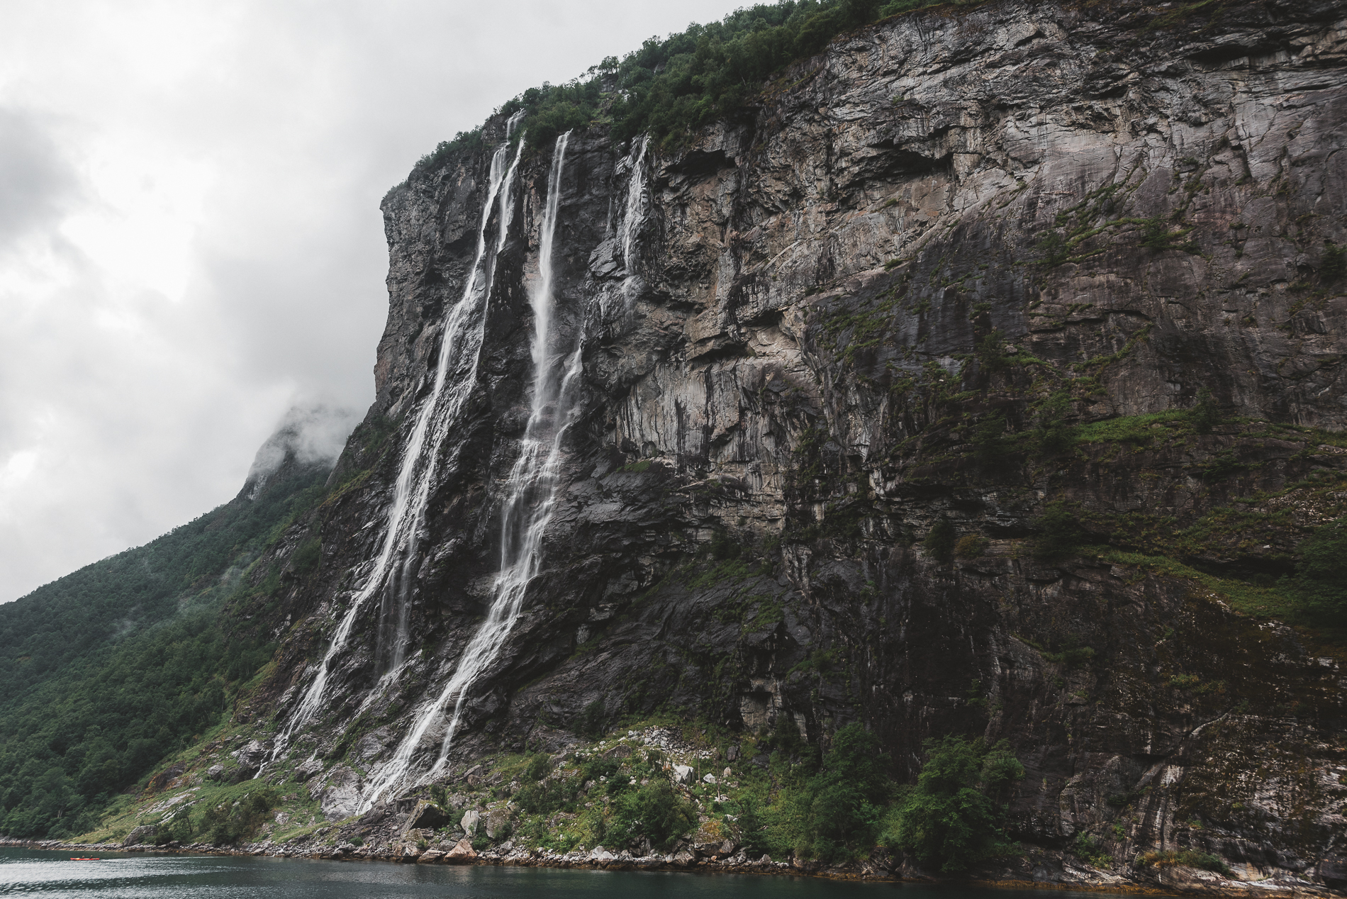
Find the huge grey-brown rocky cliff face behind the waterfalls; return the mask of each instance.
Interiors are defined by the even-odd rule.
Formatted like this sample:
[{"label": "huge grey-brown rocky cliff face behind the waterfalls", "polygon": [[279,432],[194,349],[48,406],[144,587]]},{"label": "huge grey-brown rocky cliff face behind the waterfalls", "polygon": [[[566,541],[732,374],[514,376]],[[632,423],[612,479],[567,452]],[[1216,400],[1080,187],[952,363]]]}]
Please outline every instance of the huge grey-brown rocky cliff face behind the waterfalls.
[{"label": "huge grey-brown rocky cliff face behind the waterfalls", "polygon": [[[508,228],[485,210],[481,348],[415,549],[282,739],[436,390],[505,139],[488,123],[486,150],[384,202],[377,400],[242,714],[275,713],[279,763],[348,760],[342,817],[462,663],[528,433],[559,177],[547,365],[579,341],[575,421],[540,570],[443,776],[656,708],[823,744],[862,721],[900,778],[924,739],[977,733],[1028,768],[1029,844],[1347,877],[1347,656],[1257,607],[1347,497],[1344,16],[942,8],[834,42],[684,148],[575,132],[554,175],[525,135]],[[1045,534],[1045,509],[1068,524]],[[952,561],[916,543],[942,519]],[[408,795],[447,718],[411,747]]]}]

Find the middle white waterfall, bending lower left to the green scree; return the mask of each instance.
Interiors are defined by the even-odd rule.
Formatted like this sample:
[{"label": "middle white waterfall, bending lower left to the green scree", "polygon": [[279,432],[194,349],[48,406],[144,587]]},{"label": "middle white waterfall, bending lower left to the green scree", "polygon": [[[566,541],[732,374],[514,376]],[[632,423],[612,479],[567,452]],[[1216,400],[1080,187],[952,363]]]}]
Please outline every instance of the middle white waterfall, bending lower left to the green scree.
[{"label": "middle white waterfall, bending lower left to the green scree", "polygon": [[562,438],[578,414],[575,385],[581,373],[583,329],[578,328],[574,345],[564,353],[560,377],[554,371],[552,313],[552,239],[556,233],[558,205],[560,202],[562,167],[570,132],[556,139],[552,167],[548,174],[547,202],[539,225],[539,283],[532,291],[533,307],[533,391],[520,443],[520,454],[509,474],[509,497],[501,515],[500,570],[493,585],[490,612],[477,629],[449,682],[439,697],[416,717],[393,757],[384,766],[365,794],[365,809],[380,797],[401,784],[411,770],[412,757],[426,732],[439,720],[453,701],[449,728],[440,743],[439,756],[426,778],[434,776],[445,760],[458,731],[467,690],[488,664],[500,654],[524,604],[524,594],[541,562],[543,534],[552,518],[556,503],[556,474],[560,468]]}]

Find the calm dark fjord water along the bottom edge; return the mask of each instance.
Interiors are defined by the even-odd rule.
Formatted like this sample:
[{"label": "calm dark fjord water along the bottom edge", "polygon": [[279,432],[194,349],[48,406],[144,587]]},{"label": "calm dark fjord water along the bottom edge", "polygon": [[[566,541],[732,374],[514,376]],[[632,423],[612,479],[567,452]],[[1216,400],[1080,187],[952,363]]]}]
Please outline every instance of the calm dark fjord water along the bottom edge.
[{"label": "calm dark fjord water along the bottom edge", "polygon": [[[867,884],[810,877],[559,871],[304,861],[253,856],[101,856],[70,861],[65,852],[0,849],[0,895],[89,899],[1072,899],[1098,894]],[[1117,899],[1110,896],[1109,899]]]}]

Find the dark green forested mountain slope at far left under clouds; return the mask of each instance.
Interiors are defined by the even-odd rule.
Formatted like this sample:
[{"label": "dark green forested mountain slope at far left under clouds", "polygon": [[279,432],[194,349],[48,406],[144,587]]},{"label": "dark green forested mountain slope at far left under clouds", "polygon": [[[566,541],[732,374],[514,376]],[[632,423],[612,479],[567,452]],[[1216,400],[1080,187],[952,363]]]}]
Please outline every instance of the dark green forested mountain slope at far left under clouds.
[{"label": "dark green forested mountain slope at far left under clouds", "polygon": [[[323,496],[307,469],[0,607],[0,833],[90,830],[112,798],[216,726],[272,654],[220,611],[273,592],[251,570]],[[253,584],[257,581],[257,584]]]}]

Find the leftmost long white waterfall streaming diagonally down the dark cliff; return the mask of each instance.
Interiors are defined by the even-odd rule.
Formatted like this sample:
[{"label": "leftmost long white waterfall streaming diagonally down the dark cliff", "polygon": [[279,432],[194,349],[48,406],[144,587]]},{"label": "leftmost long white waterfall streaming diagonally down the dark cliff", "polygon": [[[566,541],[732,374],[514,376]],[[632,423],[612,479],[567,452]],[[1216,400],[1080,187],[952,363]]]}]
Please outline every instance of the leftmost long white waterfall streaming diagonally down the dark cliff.
[{"label": "leftmost long white waterfall streaming diagonally down the dark cliff", "polygon": [[[352,628],[356,624],[361,608],[380,592],[387,584],[389,573],[396,567],[395,561],[401,558],[404,577],[409,576],[409,565],[416,551],[418,531],[426,514],[426,501],[430,496],[431,484],[435,476],[435,458],[439,447],[458,419],[463,400],[477,381],[477,363],[481,352],[485,305],[490,294],[490,282],[494,276],[496,256],[505,244],[513,217],[515,204],[511,197],[511,187],[515,181],[515,170],[519,167],[520,155],[524,152],[524,140],[520,139],[515,159],[506,168],[505,160],[509,156],[509,137],[515,125],[523,117],[523,112],[516,113],[505,125],[505,139],[492,155],[492,167],[486,202],[482,204],[482,221],[477,229],[477,253],[473,267],[463,286],[463,295],[449,314],[440,336],[439,360],[435,367],[435,384],[430,396],[422,403],[416,414],[416,423],[412,427],[407,446],[403,450],[401,469],[397,473],[397,483],[393,492],[393,503],[388,509],[388,524],[384,534],[384,545],[374,558],[369,576],[356,593],[342,617],[331,644],[318,667],[318,674],[310,683],[308,690],[295,713],[290,718],[282,739],[276,741],[272,757],[277,757],[290,741],[295,728],[300,726],[318,710],[322,704],[323,691],[327,687],[327,677],[333,659],[346,646]],[[490,222],[492,209],[500,204],[496,247],[488,255],[486,228]],[[453,377],[451,377],[453,375]],[[399,631],[404,625],[399,621]],[[395,651],[399,658],[400,651]],[[396,669],[396,664],[393,666]]]}]

